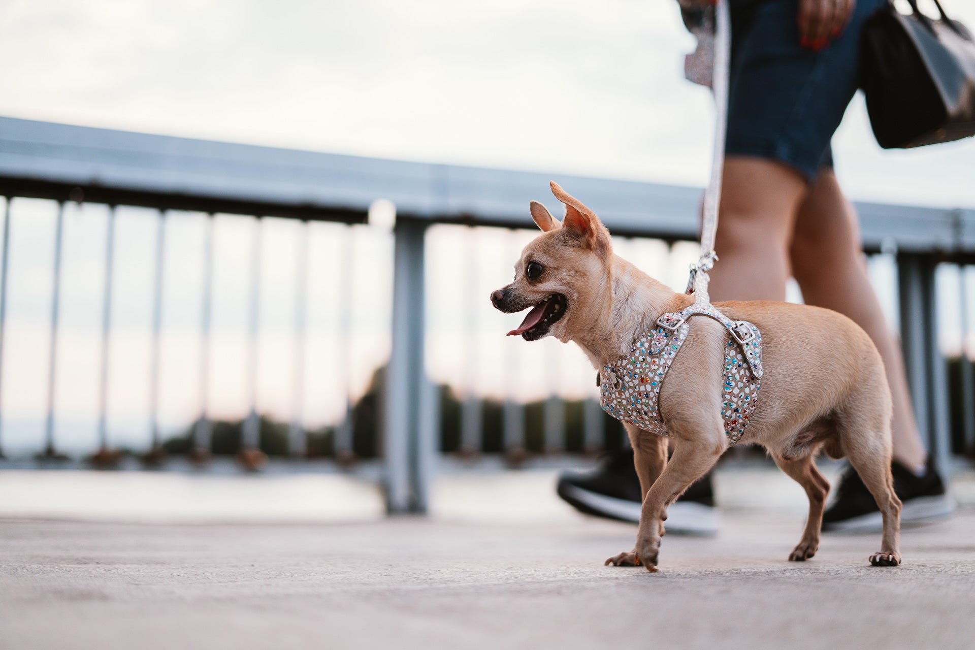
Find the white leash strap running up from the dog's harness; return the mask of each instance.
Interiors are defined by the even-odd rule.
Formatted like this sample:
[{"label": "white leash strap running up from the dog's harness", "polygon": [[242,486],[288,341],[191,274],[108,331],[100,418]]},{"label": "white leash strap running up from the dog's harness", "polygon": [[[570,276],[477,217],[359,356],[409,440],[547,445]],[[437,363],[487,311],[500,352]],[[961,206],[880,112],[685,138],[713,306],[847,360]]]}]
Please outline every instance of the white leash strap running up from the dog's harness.
[{"label": "white leash strap running up from the dog's harness", "polygon": [[727,0],[718,0],[715,7],[715,59],[711,87],[715,96],[715,142],[711,159],[711,181],[704,190],[704,210],[701,221],[701,256],[690,265],[686,293],[693,293],[695,302],[708,304],[708,271],[715,266],[715,234],[718,232],[718,207],[722,199],[724,171],[724,137],[727,130],[728,68],[731,60],[731,17]]}]

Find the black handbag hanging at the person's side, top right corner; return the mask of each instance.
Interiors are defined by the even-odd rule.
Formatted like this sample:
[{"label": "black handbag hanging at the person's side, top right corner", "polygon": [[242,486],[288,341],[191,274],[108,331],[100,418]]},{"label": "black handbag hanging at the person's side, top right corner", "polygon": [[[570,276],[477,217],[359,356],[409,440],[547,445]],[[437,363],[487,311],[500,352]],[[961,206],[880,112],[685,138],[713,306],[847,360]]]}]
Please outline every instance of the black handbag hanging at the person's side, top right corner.
[{"label": "black handbag hanging at the person's side, top right corner", "polygon": [[867,20],[860,87],[884,149],[975,135],[975,41],[934,0],[941,18],[898,12],[892,3]]}]

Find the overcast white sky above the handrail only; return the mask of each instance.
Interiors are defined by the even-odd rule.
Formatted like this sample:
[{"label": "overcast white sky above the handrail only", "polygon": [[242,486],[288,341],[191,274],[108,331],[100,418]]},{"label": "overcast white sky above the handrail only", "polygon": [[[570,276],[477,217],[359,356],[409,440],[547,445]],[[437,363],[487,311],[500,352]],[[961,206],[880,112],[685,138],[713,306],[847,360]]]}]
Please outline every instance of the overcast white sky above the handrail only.
[{"label": "overcast white sky above the handrail only", "polygon": [[[699,185],[692,46],[674,0],[7,0],[0,113]],[[975,207],[975,141],[883,152],[857,100],[836,149],[855,198]]]}]

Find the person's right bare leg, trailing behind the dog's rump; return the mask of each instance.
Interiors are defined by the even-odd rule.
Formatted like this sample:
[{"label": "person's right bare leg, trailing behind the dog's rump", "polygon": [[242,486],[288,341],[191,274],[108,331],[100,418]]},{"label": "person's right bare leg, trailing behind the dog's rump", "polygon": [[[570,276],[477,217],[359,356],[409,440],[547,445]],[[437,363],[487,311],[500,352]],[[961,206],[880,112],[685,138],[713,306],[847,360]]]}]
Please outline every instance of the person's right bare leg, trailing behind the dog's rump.
[{"label": "person's right bare leg, trailing behind the dog's rump", "polygon": [[922,470],[927,454],[917,434],[904,360],[867,275],[856,212],[843,197],[832,170],[820,172],[800,205],[790,252],[805,302],[845,314],[874,339],[894,402],[894,458],[912,470]]}]

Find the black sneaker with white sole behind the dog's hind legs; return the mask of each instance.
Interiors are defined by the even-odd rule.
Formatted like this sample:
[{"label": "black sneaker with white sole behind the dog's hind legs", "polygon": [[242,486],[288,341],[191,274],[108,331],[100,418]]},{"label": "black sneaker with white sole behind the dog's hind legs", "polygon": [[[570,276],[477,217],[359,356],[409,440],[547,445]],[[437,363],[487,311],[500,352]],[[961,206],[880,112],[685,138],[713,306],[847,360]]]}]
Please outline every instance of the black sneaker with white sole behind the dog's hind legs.
[{"label": "black sneaker with white sole behind the dog's hind legs", "polygon": [[[931,457],[921,477],[897,461],[890,464],[890,470],[894,475],[894,492],[903,504],[901,523],[936,521],[955,512],[955,501],[948,496]],[[839,477],[836,498],[823,514],[823,530],[874,532],[882,527],[882,519],[874,495],[853,468],[847,466]]]}]

